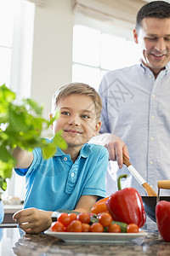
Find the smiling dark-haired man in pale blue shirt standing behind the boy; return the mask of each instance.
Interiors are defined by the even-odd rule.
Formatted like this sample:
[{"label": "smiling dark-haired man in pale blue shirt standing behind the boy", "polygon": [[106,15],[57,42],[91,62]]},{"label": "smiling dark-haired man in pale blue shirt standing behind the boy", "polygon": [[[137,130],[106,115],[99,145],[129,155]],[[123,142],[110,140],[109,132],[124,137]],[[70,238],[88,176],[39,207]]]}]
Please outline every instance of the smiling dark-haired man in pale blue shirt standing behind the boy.
[{"label": "smiling dark-haired man in pale blue shirt standing behind the boy", "polygon": [[[97,142],[109,150],[107,195],[117,190],[116,180],[127,173],[122,188],[142,186],[122,165],[122,154],[157,192],[157,181],[170,179],[170,4],[145,4],[133,30],[140,44],[140,64],[107,73],[99,86],[103,102],[102,127]],[[121,54],[121,53],[120,53]],[[100,140],[100,141],[99,141]],[[122,167],[123,166],[123,167]],[[168,191],[161,191],[161,195]]]}]

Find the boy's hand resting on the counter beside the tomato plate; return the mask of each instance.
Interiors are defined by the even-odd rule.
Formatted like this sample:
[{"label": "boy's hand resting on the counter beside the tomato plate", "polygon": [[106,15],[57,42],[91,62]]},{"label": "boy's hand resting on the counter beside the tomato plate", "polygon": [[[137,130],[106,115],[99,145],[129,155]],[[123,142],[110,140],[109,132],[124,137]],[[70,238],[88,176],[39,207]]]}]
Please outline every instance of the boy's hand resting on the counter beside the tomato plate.
[{"label": "boy's hand resting on the counter beside the tomato plate", "polygon": [[20,229],[29,234],[38,234],[48,230],[52,224],[51,215],[53,212],[38,210],[37,208],[28,208],[15,212],[13,219],[19,224]]}]

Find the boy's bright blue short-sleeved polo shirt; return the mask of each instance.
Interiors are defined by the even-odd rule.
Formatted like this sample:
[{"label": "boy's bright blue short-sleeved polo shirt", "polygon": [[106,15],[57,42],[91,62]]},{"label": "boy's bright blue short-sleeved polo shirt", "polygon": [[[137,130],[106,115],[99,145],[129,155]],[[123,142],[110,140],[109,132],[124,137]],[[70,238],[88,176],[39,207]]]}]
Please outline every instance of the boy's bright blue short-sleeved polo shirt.
[{"label": "boy's bright blue short-sleeved polo shirt", "polygon": [[48,160],[43,159],[41,148],[34,148],[32,153],[34,159],[29,168],[14,169],[19,175],[26,175],[24,208],[73,210],[82,195],[105,197],[105,147],[84,144],[75,163],[60,148]]}]

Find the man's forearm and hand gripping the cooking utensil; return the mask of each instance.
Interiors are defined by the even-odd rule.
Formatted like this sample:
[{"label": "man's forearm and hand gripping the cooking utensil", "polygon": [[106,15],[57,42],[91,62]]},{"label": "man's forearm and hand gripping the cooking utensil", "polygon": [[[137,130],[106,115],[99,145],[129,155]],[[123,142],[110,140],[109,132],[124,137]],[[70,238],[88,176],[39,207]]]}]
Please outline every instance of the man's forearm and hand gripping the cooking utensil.
[{"label": "man's forearm and hand gripping the cooking utensil", "polygon": [[103,145],[108,149],[109,160],[116,160],[119,168],[122,168],[123,154],[129,160],[129,154],[126,144],[122,141],[120,137],[117,137],[111,133],[99,134],[96,137],[92,137],[89,143],[94,143],[98,145]]}]

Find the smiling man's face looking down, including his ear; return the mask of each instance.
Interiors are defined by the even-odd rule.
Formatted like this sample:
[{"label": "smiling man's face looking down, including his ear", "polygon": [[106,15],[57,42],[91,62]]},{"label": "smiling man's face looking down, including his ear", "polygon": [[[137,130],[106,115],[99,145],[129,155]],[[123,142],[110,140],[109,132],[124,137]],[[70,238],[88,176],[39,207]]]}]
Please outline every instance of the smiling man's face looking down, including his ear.
[{"label": "smiling man's face looking down, including his ear", "polygon": [[141,45],[144,65],[157,75],[170,61],[170,18],[144,18],[133,37]]}]

